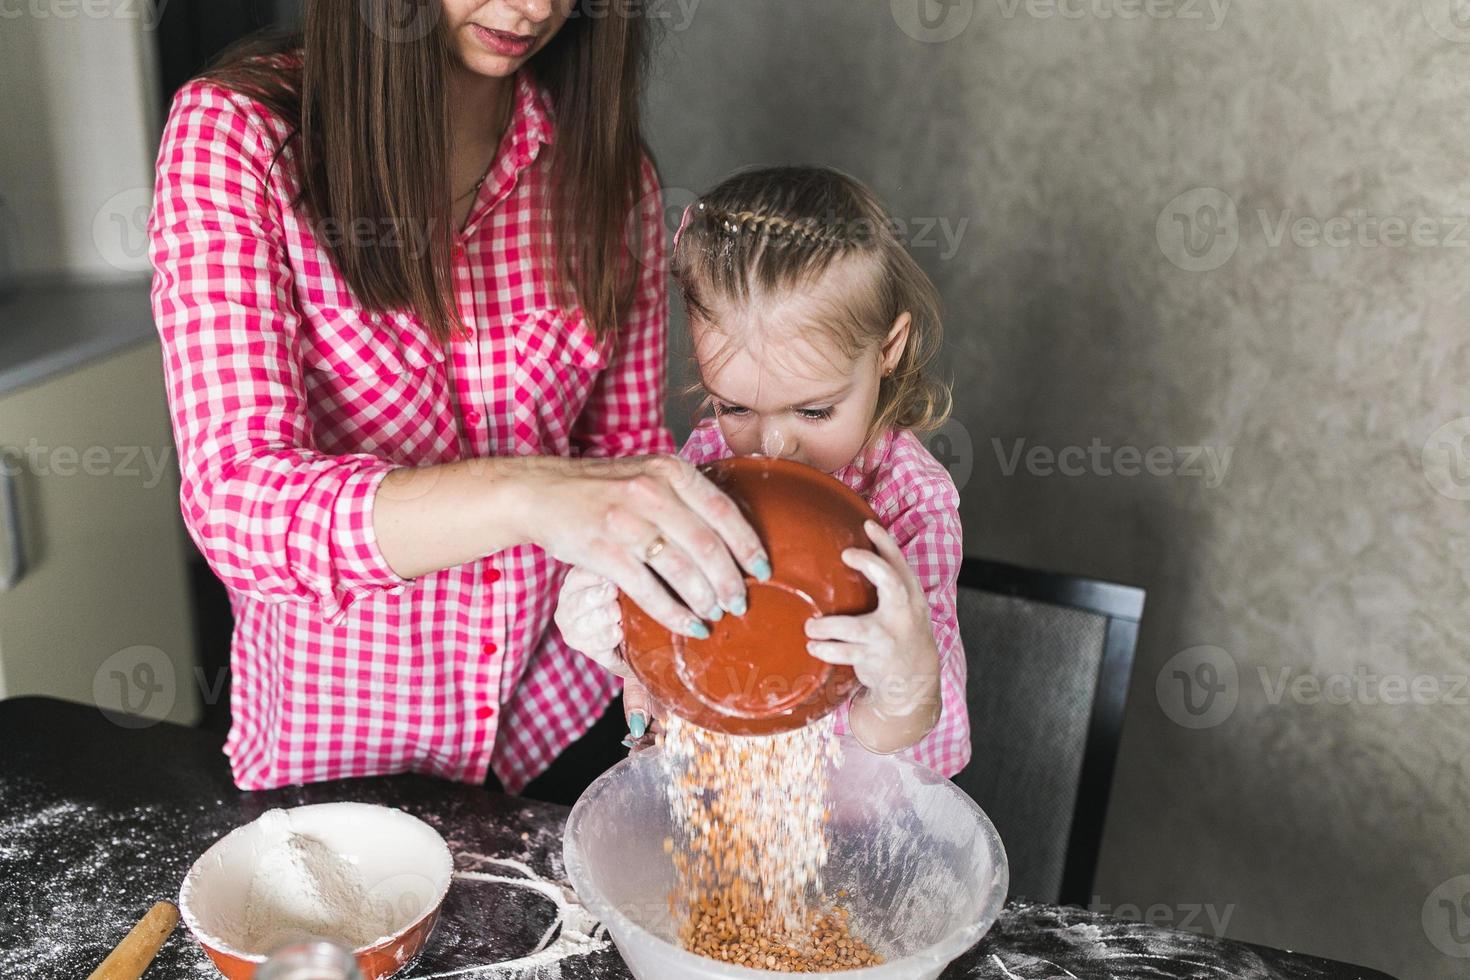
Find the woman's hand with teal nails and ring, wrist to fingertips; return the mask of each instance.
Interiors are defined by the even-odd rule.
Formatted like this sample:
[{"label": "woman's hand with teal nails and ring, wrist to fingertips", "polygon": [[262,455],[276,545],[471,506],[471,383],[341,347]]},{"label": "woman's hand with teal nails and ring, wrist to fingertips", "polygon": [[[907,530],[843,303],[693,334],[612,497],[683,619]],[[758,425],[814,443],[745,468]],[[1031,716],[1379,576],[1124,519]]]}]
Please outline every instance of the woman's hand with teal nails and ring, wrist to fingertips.
[{"label": "woman's hand with teal nails and ring, wrist to fingertips", "polygon": [[759,580],[770,577],[766,550],[735,502],[672,455],[547,458],[516,501],[526,541],[610,579],[684,636],[704,639],[704,620],[744,616],[742,566]]}]

